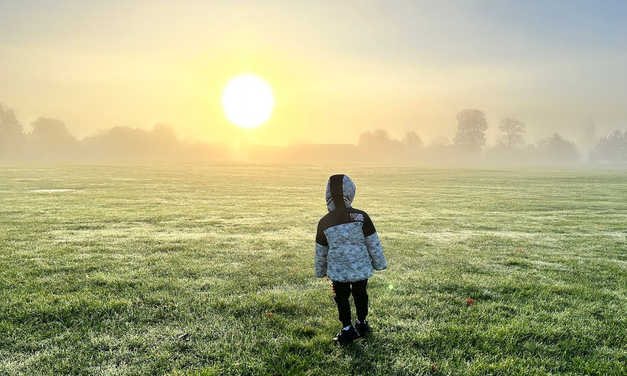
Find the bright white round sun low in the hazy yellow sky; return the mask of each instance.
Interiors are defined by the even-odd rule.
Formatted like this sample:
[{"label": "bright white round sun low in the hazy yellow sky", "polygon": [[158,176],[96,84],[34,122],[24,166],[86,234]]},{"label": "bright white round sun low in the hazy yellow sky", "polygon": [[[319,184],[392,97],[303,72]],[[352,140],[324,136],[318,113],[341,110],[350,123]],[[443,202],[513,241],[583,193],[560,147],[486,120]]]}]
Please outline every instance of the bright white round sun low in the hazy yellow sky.
[{"label": "bright white round sun low in the hazy yellow sky", "polygon": [[258,127],[272,114],[272,88],[258,76],[237,76],[224,86],[222,107],[232,123],[243,128]]}]

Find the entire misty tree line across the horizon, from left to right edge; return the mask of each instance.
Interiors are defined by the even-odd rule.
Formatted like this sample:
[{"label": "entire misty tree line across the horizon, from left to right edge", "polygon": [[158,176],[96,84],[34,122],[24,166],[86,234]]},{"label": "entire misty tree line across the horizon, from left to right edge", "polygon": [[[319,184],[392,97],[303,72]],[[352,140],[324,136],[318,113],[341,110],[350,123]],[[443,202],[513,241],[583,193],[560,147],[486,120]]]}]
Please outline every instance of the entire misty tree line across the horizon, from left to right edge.
[{"label": "entire misty tree line across the horizon, from left to right edge", "polygon": [[[498,123],[497,145],[485,147],[488,122],[477,109],[456,115],[453,140],[438,137],[428,145],[414,131],[397,140],[386,130],[361,133],[357,146],[360,159],[370,162],[492,162],[518,164],[574,164],[581,156],[573,142],[553,133],[527,144],[525,123],[505,118]],[[349,145],[292,145],[292,147],[235,150],[225,144],[179,140],[174,128],[157,124],[150,130],[113,127],[82,140],[76,139],[65,122],[40,117],[26,132],[13,109],[0,103],[0,159],[34,160],[216,160],[255,155],[255,159],[297,159],[307,155],[315,161],[321,154],[327,159],[350,159]],[[335,150],[342,149],[342,150]],[[324,157],[324,156],[322,156]],[[322,158],[324,159],[324,158]],[[357,159],[359,160],[359,159]],[[627,132],[615,130],[602,137],[589,153],[591,164],[627,164]]]}]

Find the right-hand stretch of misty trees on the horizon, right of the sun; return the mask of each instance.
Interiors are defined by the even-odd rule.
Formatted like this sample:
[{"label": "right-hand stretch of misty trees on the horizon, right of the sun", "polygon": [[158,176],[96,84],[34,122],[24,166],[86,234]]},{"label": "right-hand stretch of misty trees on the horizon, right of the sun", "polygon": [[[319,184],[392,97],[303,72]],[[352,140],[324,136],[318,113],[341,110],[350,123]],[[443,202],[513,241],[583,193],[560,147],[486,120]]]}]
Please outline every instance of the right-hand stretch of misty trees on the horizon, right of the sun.
[{"label": "right-hand stretch of misty trees on the horizon, right of the sun", "polygon": [[[581,155],[574,142],[559,133],[527,144],[525,123],[516,118],[505,118],[498,123],[497,145],[483,149],[487,144],[485,132],[488,122],[485,113],[477,109],[463,110],[456,115],[457,129],[453,142],[438,137],[429,145],[414,131],[405,133],[401,140],[392,138],[382,129],[359,135],[357,145],[369,150],[372,159],[387,156],[404,157],[424,162],[495,162],[520,164],[574,164]],[[616,130],[603,137],[590,152],[591,164],[627,164],[627,132]]]}]

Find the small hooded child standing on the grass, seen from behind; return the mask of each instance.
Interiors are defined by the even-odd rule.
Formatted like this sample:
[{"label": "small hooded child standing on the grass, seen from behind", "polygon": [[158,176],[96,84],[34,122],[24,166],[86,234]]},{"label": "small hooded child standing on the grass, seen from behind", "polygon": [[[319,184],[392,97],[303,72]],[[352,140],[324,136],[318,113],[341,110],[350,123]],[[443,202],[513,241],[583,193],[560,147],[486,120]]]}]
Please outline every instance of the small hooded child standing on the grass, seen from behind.
[{"label": "small hooded child standing on the grass, seen from behind", "polygon": [[[329,276],[342,330],[333,339],[345,345],[371,331],[368,315],[368,278],[374,269],[387,268],[379,236],[366,212],[350,207],[355,184],[346,175],[333,175],[327,182],[329,213],[318,222],[315,238],[315,275]],[[350,319],[350,293],[355,300],[357,321]]]}]

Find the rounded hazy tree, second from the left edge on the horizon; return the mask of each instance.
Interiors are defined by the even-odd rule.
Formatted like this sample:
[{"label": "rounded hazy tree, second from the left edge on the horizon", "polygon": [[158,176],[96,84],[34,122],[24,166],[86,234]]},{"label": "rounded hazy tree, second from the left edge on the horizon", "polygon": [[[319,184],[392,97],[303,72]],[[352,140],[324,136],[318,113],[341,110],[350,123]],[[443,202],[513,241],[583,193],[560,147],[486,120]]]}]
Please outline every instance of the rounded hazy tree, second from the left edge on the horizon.
[{"label": "rounded hazy tree, second from the left edge on the horizon", "polygon": [[35,155],[52,159],[66,158],[78,149],[76,137],[71,135],[62,120],[40,117],[31,123],[31,127],[33,130],[29,137]]}]

